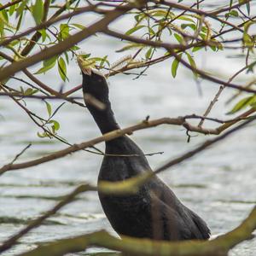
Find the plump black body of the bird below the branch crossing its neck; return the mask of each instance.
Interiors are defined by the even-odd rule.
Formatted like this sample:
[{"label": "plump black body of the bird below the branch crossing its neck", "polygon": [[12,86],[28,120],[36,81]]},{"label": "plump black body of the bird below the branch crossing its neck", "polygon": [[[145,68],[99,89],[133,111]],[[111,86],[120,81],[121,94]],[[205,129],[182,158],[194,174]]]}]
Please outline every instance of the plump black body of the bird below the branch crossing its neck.
[{"label": "plump black body of the bird below the branch crossing its neck", "polygon": [[[106,144],[99,181],[121,181],[142,172],[152,170],[143,151],[129,137]],[[207,224],[184,207],[156,176],[143,184],[136,195],[99,196],[109,222],[120,235],[168,241],[209,237]]]}]

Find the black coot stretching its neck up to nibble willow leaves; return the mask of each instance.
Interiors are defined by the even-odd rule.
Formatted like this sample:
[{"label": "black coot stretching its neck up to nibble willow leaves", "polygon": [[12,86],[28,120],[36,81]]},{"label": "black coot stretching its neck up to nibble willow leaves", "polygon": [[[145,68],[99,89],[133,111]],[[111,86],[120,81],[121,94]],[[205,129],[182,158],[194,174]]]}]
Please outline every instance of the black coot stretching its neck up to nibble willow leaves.
[{"label": "black coot stretching its neck up to nibble willow leaves", "polygon": [[[83,74],[85,104],[102,134],[119,129],[108,99],[104,75],[83,67],[81,62],[79,66]],[[102,102],[105,108],[98,108],[101,106],[96,106],[97,102]],[[98,182],[122,181],[143,172],[152,172],[143,151],[127,136],[106,142],[105,153]],[[157,176],[143,184],[136,195],[99,193],[99,197],[110,224],[120,236],[167,241],[208,239],[210,236],[207,224],[185,207]]]}]

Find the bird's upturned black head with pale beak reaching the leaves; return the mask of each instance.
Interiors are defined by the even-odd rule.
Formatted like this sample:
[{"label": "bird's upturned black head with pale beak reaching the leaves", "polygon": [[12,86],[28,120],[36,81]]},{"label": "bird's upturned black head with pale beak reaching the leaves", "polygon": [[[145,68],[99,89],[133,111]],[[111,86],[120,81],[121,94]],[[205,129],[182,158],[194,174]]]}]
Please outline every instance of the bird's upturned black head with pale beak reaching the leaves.
[{"label": "bird's upturned black head with pale beak reaching the leaves", "polygon": [[83,75],[83,92],[86,96],[95,98],[103,104],[108,103],[108,83],[105,76],[94,68],[86,65],[82,57],[78,57],[79,67]]}]

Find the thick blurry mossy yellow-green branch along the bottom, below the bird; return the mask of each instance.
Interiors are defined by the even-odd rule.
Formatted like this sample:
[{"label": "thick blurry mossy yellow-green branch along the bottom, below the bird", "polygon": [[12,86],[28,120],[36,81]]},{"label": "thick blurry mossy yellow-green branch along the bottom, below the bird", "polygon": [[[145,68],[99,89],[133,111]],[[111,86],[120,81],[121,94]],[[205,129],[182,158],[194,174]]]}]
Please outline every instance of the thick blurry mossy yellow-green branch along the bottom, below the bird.
[{"label": "thick blurry mossy yellow-green branch along the bottom, below the bird", "polygon": [[98,246],[118,250],[129,255],[148,256],[216,256],[226,255],[228,251],[252,236],[256,229],[256,207],[249,216],[229,233],[218,236],[212,241],[151,241],[128,236],[119,238],[110,236],[106,231],[95,232],[89,235],[62,239],[48,245],[38,247],[31,252],[20,256],[61,256],[66,253],[84,251],[86,247]]}]

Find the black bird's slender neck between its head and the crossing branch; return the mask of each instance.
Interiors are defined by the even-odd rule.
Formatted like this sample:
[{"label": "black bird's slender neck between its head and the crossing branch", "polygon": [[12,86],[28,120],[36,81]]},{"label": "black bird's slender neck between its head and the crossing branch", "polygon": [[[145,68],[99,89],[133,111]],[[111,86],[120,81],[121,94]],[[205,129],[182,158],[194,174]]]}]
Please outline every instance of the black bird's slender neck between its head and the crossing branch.
[{"label": "black bird's slender neck between its head and the crossing branch", "polygon": [[107,133],[109,131],[117,130],[120,128],[114,118],[110,102],[107,101],[107,102],[104,102],[104,104],[106,106],[104,110],[98,109],[92,105],[87,106],[91,115],[93,116],[93,119],[95,119],[96,124],[101,130],[102,134]]}]

